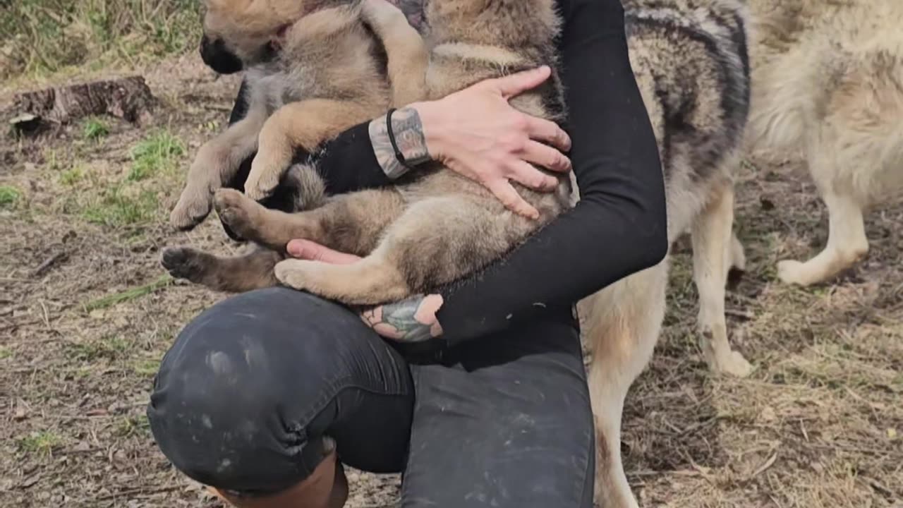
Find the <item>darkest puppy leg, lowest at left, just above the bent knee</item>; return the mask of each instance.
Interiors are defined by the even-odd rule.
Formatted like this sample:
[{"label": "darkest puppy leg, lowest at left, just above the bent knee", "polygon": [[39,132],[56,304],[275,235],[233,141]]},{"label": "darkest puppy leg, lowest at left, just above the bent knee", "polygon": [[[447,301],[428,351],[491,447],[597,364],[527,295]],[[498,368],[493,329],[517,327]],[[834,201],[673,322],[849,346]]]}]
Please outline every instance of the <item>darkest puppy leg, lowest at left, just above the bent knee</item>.
[{"label": "darkest puppy leg, lowest at left, just above the bent knee", "polygon": [[161,262],[174,278],[185,278],[216,291],[242,293],[276,286],[273,268],[283,256],[253,246],[243,256],[220,257],[189,247],[163,249]]}]

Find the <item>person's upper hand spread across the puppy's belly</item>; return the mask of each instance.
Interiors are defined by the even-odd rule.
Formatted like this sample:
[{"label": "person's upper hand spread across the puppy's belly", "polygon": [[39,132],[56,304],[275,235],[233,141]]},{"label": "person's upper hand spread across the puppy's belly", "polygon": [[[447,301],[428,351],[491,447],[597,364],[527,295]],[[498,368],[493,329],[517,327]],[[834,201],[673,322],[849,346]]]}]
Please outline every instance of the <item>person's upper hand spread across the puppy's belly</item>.
[{"label": "person's upper hand spread across the puppy's belly", "polygon": [[486,186],[505,206],[526,217],[539,212],[511,185],[513,180],[551,192],[558,180],[528,164],[567,173],[571,138],[549,120],[518,111],[508,100],[542,84],[548,67],[484,80],[434,101],[415,102],[426,147],[434,160]]}]

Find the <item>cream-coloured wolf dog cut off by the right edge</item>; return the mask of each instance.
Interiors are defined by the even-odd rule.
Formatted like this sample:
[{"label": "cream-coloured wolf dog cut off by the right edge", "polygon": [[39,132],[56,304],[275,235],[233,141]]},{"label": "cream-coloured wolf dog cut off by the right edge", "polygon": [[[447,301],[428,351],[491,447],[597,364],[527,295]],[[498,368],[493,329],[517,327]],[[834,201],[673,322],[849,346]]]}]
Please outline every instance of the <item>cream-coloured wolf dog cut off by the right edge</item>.
[{"label": "cream-coloured wolf dog cut off by the right edge", "polygon": [[828,209],[828,241],[778,277],[807,286],[869,251],[863,213],[903,197],[903,2],[751,0],[749,141],[802,147]]}]

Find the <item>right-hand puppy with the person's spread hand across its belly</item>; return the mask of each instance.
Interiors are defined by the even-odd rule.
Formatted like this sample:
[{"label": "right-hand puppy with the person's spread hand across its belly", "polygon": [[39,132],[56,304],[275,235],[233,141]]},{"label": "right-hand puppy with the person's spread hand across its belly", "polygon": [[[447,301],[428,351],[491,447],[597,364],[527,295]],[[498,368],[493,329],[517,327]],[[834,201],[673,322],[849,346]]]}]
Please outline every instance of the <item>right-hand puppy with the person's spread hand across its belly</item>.
[{"label": "right-hand puppy with the person's spread hand across its belly", "polygon": [[[433,50],[419,94],[424,99],[441,99],[480,80],[542,64],[554,67],[559,19],[552,0],[442,0],[430,2],[425,17]],[[319,71],[309,72],[318,79]],[[367,80],[358,81],[358,87],[369,86]],[[511,104],[535,117],[563,120],[557,71],[544,86]],[[306,123],[319,121],[319,115],[331,118],[341,111],[332,106],[293,118]],[[367,118],[375,116],[368,113]],[[275,129],[265,128],[263,134],[261,148],[271,135],[280,136]],[[279,158],[273,167],[284,162]],[[216,194],[220,219],[242,238],[278,252],[300,238],[363,256],[346,266],[288,259],[275,268],[284,285],[349,305],[382,304],[462,278],[502,257],[570,206],[567,177],[556,175],[559,184],[553,193],[518,188],[540,212],[539,220],[532,221],[507,211],[479,183],[433,164],[418,168],[411,181],[396,188],[335,196],[319,208],[284,213],[252,199],[254,185],[265,193],[278,182],[271,176],[255,179],[255,171],[246,185],[248,195],[232,190]]]}]

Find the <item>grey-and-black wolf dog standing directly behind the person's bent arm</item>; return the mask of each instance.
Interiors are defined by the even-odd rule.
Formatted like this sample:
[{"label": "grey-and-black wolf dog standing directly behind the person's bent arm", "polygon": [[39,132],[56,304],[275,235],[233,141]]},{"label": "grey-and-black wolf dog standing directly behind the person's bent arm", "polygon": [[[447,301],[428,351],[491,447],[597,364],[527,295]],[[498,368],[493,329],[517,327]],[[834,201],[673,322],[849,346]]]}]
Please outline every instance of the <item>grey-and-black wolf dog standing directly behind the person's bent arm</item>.
[{"label": "grey-and-black wolf dog standing directly behind the person's bent arm", "polygon": [[[666,178],[668,238],[689,232],[699,292],[699,341],[712,370],[748,375],[731,351],[724,315],[731,267],[745,258],[732,235],[731,173],[749,113],[749,14],[742,0],[624,0],[630,62],[656,133]],[[621,464],[628,388],[652,356],[665,317],[668,260],[581,302],[591,350],[600,506],[637,506]]]}]

